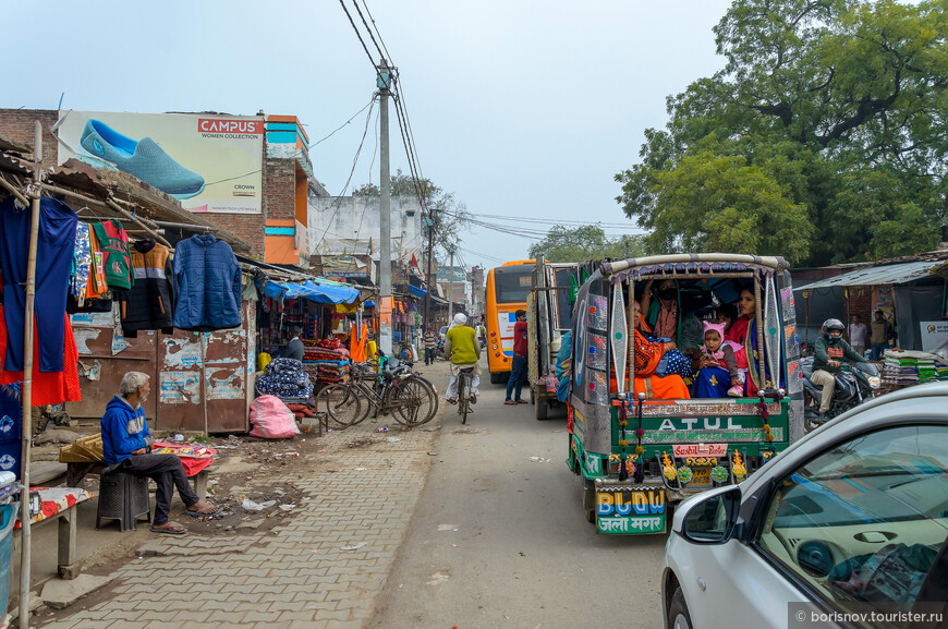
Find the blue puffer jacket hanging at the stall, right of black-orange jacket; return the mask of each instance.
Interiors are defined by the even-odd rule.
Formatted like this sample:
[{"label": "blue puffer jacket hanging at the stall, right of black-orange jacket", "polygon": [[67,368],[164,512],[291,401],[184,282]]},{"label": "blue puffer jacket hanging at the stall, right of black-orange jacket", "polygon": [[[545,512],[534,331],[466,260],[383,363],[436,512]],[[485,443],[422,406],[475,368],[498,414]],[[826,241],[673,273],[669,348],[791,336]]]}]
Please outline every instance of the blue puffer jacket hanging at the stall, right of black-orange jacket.
[{"label": "blue puffer jacket hanging at the stall, right of black-orange jacket", "polygon": [[174,247],[174,327],[212,331],[241,325],[241,269],[233,250],[195,234]]}]

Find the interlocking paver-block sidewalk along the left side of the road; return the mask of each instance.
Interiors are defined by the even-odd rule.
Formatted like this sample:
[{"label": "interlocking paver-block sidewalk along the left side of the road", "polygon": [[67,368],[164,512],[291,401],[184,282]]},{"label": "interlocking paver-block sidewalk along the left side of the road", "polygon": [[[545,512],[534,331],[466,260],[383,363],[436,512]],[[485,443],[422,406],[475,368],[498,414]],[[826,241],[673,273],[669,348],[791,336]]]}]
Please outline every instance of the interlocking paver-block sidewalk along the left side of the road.
[{"label": "interlocking paver-block sidewalk along the left side of the road", "polygon": [[[418,367],[443,391],[447,363]],[[446,407],[412,431],[381,418],[314,439],[325,451],[307,448],[280,479],[304,495],[292,519],[247,535],[155,536],[112,574],[108,600],[44,627],[361,628],[405,536]]]}]

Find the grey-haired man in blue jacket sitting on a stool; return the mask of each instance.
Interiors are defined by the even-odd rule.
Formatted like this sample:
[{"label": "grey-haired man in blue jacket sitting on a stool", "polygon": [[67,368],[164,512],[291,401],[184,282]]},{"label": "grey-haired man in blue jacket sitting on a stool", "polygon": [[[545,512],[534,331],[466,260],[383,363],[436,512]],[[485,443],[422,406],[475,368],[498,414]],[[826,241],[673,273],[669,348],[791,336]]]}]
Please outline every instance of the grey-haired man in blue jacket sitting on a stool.
[{"label": "grey-haired man in blue jacket sitting on a stool", "polygon": [[214,516],[220,511],[220,507],[215,507],[194,494],[184,474],[184,465],[177,455],[150,453],[154,439],[148,432],[145,411],[141,404],[150,391],[146,374],[129,372],[122,377],[120,395],[109,401],[106,414],[102,415],[102,453],[110,472],[147,476],[158,484],[151,532],[182,535],[187,529],[168,520],[172,486],[178,487],[178,494],[184,501],[189,516]]}]

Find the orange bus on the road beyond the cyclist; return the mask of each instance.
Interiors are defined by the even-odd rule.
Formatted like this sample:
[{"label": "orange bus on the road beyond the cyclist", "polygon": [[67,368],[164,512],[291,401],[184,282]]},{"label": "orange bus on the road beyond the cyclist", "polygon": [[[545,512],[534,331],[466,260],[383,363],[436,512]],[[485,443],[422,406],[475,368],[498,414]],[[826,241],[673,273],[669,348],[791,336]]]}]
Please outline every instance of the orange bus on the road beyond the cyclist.
[{"label": "orange bus on the road beyond the cyclist", "polygon": [[506,382],[510,376],[513,313],[526,310],[535,263],[533,259],[516,259],[487,271],[484,324],[487,326],[487,368],[494,384]]}]

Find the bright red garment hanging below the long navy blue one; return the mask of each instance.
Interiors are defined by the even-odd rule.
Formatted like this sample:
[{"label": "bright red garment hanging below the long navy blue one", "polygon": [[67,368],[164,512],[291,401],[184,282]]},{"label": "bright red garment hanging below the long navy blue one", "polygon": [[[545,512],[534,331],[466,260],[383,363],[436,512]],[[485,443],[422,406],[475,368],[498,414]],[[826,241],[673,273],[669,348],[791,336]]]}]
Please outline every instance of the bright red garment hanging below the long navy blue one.
[{"label": "bright red garment hanging below the long navy blue one", "polygon": [[[0,306],[0,363],[3,363],[3,368],[0,370],[0,385],[12,385],[23,382],[22,371],[5,371],[9,364],[4,363],[3,356],[7,353],[7,325],[5,317],[2,314],[3,306]],[[59,352],[63,358],[63,370],[61,372],[42,372],[39,370],[39,346],[33,346],[33,406],[45,407],[47,404],[61,404],[62,402],[80,402],[83,399],[82,390],[78,382],[78,349],[75,344],[75,337],[72,334],[72,324],[70,324],[69,315],[62,314],[63,317],[63,336],[62,346]],[[38,323],[38,322],[37,322]],[[22,329],[21,329],[22,332]],[[34,324],[34,335],[38,338],[41,334],[39,326]]]}]

